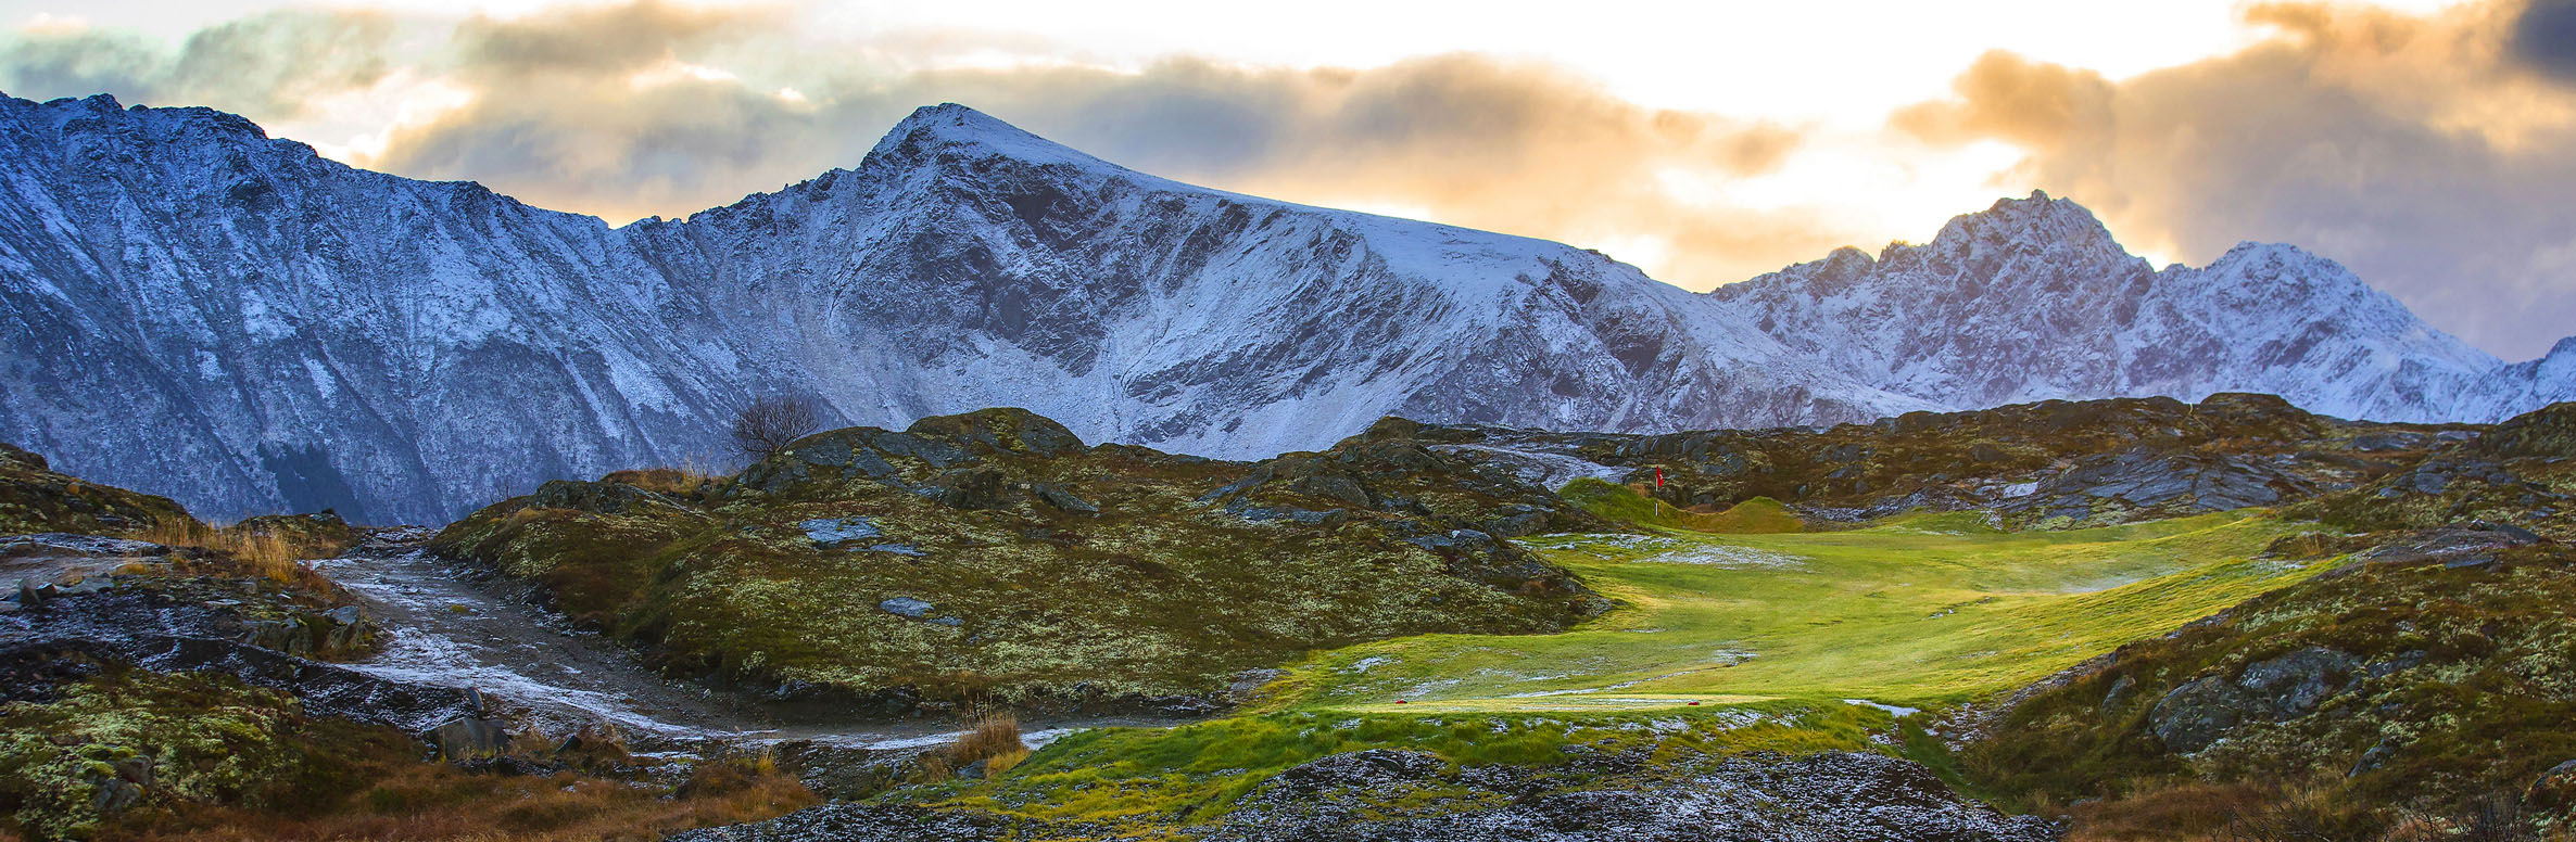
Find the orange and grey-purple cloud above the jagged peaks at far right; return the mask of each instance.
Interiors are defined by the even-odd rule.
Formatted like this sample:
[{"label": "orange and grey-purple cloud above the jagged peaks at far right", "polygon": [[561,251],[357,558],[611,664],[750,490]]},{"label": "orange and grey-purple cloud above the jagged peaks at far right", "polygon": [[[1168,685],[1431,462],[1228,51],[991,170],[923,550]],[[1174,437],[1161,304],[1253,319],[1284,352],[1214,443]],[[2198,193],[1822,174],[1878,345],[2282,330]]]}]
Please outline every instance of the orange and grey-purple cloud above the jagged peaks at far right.
[{"label": "orange and grey-purple cloud above the jagged peaks at far right", "polygon": [[1891,126],[2012,142],[2027,157],[2002,180],[2087,201],[2148,250],[2303,245],[2437,327],[2540,355],[2576,312],[2553,257],[2576,232],[2576,90],[2532,72],[2535,15],[2259,5],[2275,36],[2228,57],[2107,80],[1986,54]]}]

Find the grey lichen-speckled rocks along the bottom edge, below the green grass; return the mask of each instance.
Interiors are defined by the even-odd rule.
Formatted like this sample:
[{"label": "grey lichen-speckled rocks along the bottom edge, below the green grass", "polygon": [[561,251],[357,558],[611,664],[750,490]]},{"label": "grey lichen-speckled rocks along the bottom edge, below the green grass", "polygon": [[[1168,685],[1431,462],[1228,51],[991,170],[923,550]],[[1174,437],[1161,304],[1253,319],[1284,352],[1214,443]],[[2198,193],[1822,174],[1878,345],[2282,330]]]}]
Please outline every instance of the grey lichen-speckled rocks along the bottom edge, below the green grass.
[{"label": "grey lichen-speckled rocks along the bottom edge, below the green grass", "polygon": [[[1633,757],[1577,770],[1463,767],[1368,749],[1291,767],[1208,824],[1162,829],[1206,842],[2043,842],[2058,829],[1950,793],[1922,765],[1883,754],[1747,754],[1680,780],[1625,783]],[[1551,778],[1564,775],[1564,778]],[[675,842],[1079,839],[1100,829],[966,809],[832,803]]]}]

